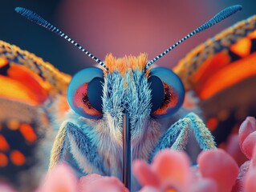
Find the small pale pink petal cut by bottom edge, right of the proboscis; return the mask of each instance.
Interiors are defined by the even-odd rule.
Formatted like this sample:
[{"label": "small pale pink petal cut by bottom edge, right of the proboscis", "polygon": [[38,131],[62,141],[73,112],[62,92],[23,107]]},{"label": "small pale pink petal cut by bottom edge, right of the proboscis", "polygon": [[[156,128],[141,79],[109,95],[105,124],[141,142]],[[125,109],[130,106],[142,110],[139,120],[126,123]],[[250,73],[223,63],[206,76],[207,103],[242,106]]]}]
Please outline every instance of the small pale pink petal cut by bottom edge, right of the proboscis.
[{"label": "small pale pink petal cut by bottom edge, right of the proboscis", "polygon": [[217,192],[217,183],[213,179],[204,178],[196,182],[194,185],[189,186],[189,192]]}]

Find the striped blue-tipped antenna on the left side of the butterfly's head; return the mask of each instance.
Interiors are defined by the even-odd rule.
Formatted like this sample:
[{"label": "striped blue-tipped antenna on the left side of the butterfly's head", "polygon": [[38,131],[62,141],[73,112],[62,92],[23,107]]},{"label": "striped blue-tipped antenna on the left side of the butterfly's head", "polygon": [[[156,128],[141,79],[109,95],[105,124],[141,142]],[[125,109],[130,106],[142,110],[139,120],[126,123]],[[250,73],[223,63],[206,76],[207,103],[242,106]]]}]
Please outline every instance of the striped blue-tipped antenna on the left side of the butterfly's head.
[{"label": "striped blue-tipped antenna on the left side of the butterfly's head", "polygon": [[35,22],[39,26],[43,26],[44,28],[47,28],[47,30],[51,30],[55,34],[58,34],[60,37],[65,38],[68,42],[71,42],[74,46],[78,47],[79,50],[82,50],[84,54],[87,54],[90,58],[94,59],[95,62],[98,62],[100,66],[103,66],[107,71],[108,67],[105,65],[104,62],[100,61],[99,58],[96,58],[93,54],[85,50],[82,46],[80,46],[77,42],[75,42],[73,39],[69,38],[67,34],[64,34],[61,30],[59,30],[57,27],[53,26],[50,22],[47,22],[44,18],[39,16],[38,14],[34,13],[31,10],[26,10],[22,7],[16,7],[15,11],[18,14],[21,14],[23,17],[27,18],[31,22]]}]

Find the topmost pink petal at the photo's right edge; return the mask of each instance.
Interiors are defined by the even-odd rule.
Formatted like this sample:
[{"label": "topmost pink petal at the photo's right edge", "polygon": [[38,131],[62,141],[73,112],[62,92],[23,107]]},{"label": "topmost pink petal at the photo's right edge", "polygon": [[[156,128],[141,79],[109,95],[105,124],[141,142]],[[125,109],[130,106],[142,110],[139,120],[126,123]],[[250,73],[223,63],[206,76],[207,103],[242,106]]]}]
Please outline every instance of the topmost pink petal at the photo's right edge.
[{"label": "topmost pink petal at the photo's right edge", "polygon": [[239,143],[242,146],[242,143],[246,137],[256,130],[256,119],[253,117],[247,117],[244,122],[242,122],[239,129]]}]

